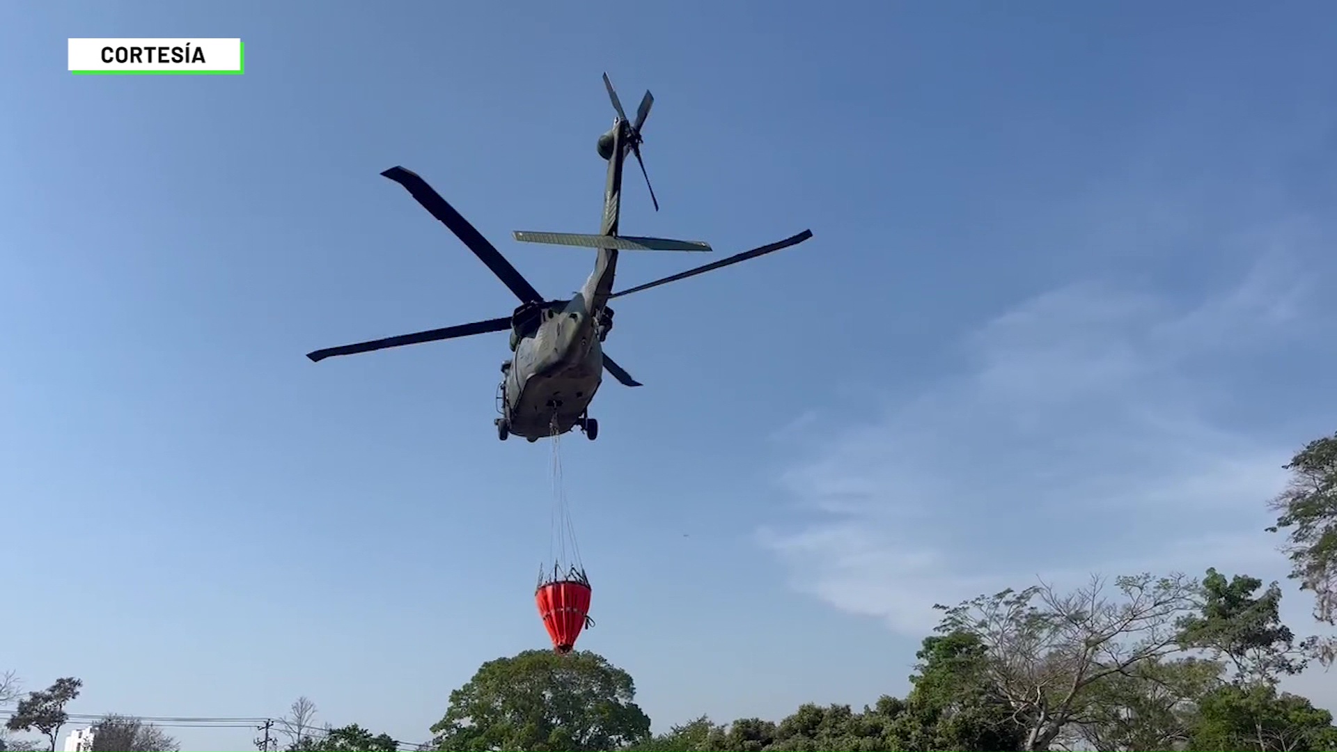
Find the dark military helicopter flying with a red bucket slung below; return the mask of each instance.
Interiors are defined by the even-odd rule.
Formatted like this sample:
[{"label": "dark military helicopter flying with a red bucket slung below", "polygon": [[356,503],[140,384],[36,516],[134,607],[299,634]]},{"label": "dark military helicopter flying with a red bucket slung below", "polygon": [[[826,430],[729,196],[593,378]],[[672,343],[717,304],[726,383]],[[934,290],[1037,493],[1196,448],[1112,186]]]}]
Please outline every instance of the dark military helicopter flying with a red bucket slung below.
[{"label": "dark military helicopter flying with a red bucket slung below", "polygon": [[599,436],[599,421],[590,417],[588,407],[603,381],[603,371],[607,369],[614,379],[627,387],[642,385],[603,352],[603,341],[612,331],[612,309],[607,305],[610,300],[757,258],[813,237],[810,230],[804,230],[779,242],[754,248],[626,290],[612,292],[614,276],[618,269],[618,252],[620,250],[711,252],[713,249],[709,244],[699,241],[618,234],[618,219],[622,210],[622,170],[628,153],[640,165],[640,173],[646,178],[646,187],[650,191],[650,201],[654,203],[655,211],[659,210],[659,201],[655,198],[650,175],[646,173],[646,163],[640,157],[640,128],[650,115],[654,96],[646,91],[636,108],[636,119],[631,120],[623,111],[622,102],[618,100],[618,92],[614,91],[607,74],[603,76],[603,84],[608,90],[608,99],[612,102],[616,118],[612,127],[598,140],[599,157],[608,162],[608,178],[603,197],[603,223],[599,234],[515,233],[515,240],[520,242],[595,249],[598,256],[594,272],[580,292],[570,300],[544,298],[427,181],[404,167],[390,167],[381,175],[404,186],[424,209],[455,233],[520,298],[520,305],[508,317],[320,349],[306,357],[318,363],[338,355],[509,329],[511,352],[515,355],[501,364],[503,379],[497,387],[496,397],[497,411],[501,416],[495,420],[497,438],[505,440],[513,434],[536,442],[544,436],[556,436],[572,428],[580,428],[586,438],[595,440]]}]

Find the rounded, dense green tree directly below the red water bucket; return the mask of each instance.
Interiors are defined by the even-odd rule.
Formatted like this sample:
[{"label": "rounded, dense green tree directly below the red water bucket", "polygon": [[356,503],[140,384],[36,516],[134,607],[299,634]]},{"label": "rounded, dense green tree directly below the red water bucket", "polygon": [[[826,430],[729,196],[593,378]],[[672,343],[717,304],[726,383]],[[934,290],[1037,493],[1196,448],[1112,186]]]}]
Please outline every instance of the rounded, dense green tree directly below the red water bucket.
[{"label": "rounded, dense green tree directly below the red water bucket", "polygon": [[432,727],[451,752],[611,752],[650,739],[631,676],[588,650],[488,661]]}]

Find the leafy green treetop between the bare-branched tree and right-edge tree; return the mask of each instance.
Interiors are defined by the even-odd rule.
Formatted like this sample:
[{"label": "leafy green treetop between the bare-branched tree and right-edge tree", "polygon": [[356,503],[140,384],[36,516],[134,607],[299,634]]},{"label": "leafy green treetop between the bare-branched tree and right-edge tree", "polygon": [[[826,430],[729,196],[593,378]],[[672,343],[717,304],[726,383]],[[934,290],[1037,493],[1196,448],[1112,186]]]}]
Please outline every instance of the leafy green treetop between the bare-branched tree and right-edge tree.
[{"label": "leafy green treetop between the bare-branched tree and right-edge tree", "polygon": [[1209,650],[1214,658],[1227,658],[1239,684],[1277,684],[1282,674],[1297,674],[1309,664],[1314,641],[1296,644],[1290,628],[1281,622],[1281,586],[1275,582],[1262,594],[1257,577],[1234,575],[1229,581],[1215,569],[1202,581],[1202,613],[1185,622],[1181,645]]}]

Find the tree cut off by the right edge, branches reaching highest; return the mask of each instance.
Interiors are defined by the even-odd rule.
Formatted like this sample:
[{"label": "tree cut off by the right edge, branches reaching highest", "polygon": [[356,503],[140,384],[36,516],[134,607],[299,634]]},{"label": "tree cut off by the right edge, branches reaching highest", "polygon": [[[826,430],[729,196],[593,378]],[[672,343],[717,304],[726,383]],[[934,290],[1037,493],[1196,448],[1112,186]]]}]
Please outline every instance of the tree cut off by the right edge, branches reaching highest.
[{"label": "tree cut off by the right edge, branches reaching highest", "polygon": [[[1314,618],[1337,625],[1337,434],[1310,442],[1285,468],[1292,478],[1271,500],[1280,514],[1267,531],[1288,530],[1290,578],[1314,594]],[[1322,648],[1320,658],[1332,664],[1337,640]]]}]

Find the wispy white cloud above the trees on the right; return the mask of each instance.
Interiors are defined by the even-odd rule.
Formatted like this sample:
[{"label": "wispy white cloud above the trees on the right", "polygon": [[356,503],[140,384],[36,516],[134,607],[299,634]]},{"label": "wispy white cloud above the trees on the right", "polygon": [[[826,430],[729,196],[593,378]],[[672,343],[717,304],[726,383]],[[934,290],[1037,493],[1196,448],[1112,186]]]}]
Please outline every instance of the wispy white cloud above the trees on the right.
[{"label": "wispy white cloud above the trees on the right", "polygon": [[935,602],[1036,575],[1280,575],[1265,500],[1305,438],[1259,438],[1231,408],[1322,301],[1288,238],[1254,237],[1254,266],[1195,300],[1083,282],[975,328],[956,372],[818,432],[781,478],[801,518],[762,543],[801,591],[908,636]]}]

